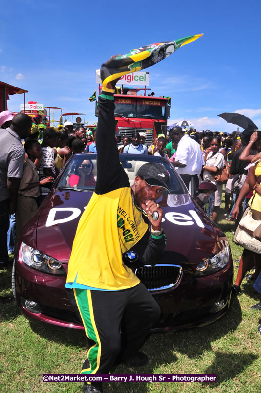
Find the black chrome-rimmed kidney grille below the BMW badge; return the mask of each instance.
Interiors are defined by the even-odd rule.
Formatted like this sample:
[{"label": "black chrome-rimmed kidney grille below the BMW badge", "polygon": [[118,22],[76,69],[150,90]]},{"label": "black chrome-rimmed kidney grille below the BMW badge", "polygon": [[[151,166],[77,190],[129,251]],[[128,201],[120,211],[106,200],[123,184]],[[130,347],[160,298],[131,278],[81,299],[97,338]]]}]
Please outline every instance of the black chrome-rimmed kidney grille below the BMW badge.
[{"label": "black chrome-rimmed kidney grille below the BMW badge", "polygon": [[182,267],[179,265],[146,265],[136,269],[135,274],[149,291],[158,291],[176,287],[181,280]]}]

